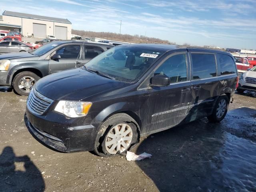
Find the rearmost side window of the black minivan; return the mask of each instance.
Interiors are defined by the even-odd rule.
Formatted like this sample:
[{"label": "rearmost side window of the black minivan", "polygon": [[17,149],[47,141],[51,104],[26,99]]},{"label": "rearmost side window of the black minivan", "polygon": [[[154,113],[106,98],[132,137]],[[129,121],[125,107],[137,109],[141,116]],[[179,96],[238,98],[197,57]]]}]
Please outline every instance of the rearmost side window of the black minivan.
[{"label": "rearmost side window of the black minivan", "polygon": [[236,73],[236,66],[234,64],[233,59],[224,54],[218,54],[219,62],[220,62],[220,74],[228,75]]}]

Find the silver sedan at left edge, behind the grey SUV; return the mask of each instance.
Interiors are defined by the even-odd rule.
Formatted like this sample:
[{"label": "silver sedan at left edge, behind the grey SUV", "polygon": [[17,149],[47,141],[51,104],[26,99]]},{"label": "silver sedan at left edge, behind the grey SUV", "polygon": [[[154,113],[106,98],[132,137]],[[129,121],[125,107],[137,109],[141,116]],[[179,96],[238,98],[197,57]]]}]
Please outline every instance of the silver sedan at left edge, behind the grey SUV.
[{"label": "silver sedan at left edge, behind the grey SUV", "polygon": [[2,53],[16,53],[16,52],[28,52],[33,48],[17,41],[2,41],[0,42],[0,54]]}]

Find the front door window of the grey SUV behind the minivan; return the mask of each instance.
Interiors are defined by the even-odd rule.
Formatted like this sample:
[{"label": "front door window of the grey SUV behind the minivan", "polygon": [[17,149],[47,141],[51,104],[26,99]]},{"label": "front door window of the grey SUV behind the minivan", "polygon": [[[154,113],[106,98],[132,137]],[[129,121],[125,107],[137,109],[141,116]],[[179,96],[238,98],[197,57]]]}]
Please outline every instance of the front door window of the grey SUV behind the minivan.
[{"label": "front door window of the grey SUV behind the minivan", "polygon": [[80,45],[66,45],[56,51],[62,59],[76,59],[79,58]]}]

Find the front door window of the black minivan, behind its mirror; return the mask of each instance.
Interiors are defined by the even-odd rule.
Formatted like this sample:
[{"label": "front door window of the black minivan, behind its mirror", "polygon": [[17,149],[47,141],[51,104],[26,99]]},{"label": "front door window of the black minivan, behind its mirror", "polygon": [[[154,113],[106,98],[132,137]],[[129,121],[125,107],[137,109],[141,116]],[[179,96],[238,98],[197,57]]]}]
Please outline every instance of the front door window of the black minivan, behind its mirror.
[{"label": "front door window of the black minivan, behind its mirror", "polygon": [[186,54],[178,54],[168,58],[154,73],[170,77],[171,83],[187,80]]}]

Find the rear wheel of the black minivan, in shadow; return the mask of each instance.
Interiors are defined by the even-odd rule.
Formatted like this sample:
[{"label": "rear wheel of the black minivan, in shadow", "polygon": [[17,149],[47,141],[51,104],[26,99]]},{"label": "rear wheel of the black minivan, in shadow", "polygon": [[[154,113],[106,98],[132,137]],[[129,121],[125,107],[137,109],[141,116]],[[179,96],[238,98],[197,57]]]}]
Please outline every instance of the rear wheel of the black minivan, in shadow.
[{"label": "rear wheel of the black minivan, in shadow", "polygon": [[228,112],[228,96],[220,96],[216,101],[214,110],[210,116],[207,116],[210,122],[221,122]]}]

